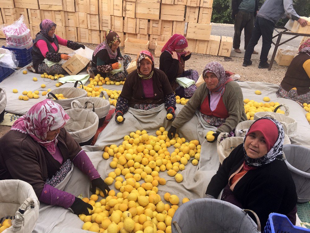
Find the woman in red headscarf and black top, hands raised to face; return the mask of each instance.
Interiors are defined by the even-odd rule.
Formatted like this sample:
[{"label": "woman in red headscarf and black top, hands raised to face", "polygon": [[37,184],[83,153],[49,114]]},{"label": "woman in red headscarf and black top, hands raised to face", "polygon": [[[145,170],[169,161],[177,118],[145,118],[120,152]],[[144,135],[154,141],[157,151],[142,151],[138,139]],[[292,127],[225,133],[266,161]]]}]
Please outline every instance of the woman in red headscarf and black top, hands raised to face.
[{"label": "woman in red headscarf and black top, hands raised to face", "polygon": [[159,69],[164,71],[167,75],[172,89],[176,95],[181,98],[191,98],[197,89],[193,84],[188,88],[179,86],[175,82],[176,78],[186,77],[194,80],[195,83],[198,80],[198,72],[195,70],[185,71],[185,61],[191,57],[191,52],[187,50],[188,43],[184,36],[174,34],[168,42],[162,48],[162,54],[159,57]]}]

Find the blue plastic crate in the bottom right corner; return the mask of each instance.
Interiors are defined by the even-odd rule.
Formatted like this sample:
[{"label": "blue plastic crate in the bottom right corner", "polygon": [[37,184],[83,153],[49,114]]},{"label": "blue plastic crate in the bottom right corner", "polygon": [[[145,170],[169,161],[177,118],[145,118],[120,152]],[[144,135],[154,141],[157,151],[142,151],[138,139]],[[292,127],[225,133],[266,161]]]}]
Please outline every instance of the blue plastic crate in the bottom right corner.
[{"label": "blue plastic crate in the bottom right corner", "polygon": [[307,233],[310,229],[294,226],[291,221],[283,214],[271,213],[264,233]]}]

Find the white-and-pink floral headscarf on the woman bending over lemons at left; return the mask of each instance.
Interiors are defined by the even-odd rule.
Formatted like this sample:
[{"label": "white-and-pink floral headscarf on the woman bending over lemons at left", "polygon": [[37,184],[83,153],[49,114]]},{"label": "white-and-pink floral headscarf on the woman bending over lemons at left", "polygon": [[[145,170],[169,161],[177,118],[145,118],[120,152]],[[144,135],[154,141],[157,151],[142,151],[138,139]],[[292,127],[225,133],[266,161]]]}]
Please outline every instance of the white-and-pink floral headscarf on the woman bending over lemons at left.
[{"label": "white-and-pink floral headscarf on the woman bending over lemons at left", "polygon": [[11,127],[11,130],[18,130],[29,134],[38,144],[44,146],[49,153],[55,154],[58,140],[46,140],[47,132],[63,127],[70,119],[64,109],[54,101],[42,100],[33,105],[29,111],[18,118]]}]

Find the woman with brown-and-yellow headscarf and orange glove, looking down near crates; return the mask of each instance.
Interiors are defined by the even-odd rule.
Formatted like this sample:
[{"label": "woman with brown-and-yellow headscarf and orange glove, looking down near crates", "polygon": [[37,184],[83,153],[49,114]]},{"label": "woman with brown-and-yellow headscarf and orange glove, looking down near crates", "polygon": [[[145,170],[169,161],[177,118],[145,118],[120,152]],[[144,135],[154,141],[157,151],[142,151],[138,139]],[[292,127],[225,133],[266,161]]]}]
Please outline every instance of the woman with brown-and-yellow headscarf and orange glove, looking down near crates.
[{"label": "woman with brown-and-yellow headscarf and orange glove, looking down near crates", "polygon": [[[87,69],[91,77],[99,73],[102,77],[108,77],[114,82],[120,82],[126,78],[128,73],[125,67],[131,62],[131,58],[128,55],[122,56],[118,47],[120,43],[121,40],[116,32],[106,30],[104,42],[98,44],[94,50],[92,68]],[[118,66],[120,60],[124,61],[122,69]]]}]

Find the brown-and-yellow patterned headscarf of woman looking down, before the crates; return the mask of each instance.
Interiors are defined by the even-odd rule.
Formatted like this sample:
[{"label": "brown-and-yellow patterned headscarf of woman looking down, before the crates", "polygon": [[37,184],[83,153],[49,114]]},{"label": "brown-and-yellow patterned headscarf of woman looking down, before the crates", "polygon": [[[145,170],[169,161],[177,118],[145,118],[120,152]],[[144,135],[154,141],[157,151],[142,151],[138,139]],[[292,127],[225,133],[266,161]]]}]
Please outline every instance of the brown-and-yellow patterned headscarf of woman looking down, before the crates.
[{"label": "brown-and-yellow patterned headscarf of woman looking down, before the crates", "polygon": [[108,51],[109,57],[111,59],[115,59],[117,56],[117,50],[115,52],[112,51],[112,46],[115,42],[119,41],[121,43],[121,40],[119,39],[119,36],[117,35],[116,32],[108,29],[104,33],[104,42],[100,43],[97,45],[94,51],[94,56],[101,50],[101,49],[106,49]]}]

